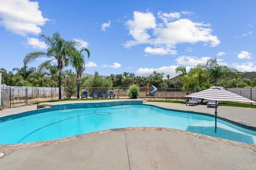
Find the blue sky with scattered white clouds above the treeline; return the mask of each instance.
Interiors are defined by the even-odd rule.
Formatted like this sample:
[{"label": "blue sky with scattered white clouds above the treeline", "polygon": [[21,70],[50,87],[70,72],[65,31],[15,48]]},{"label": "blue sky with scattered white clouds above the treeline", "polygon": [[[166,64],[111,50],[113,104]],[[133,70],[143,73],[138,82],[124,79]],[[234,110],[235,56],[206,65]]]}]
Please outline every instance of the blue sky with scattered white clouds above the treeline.
[{"label": "blue sky with scattered white clouds above the treeline", "polygon": [[39,34],[58,31],[89,49],[88,74],[174,77],[215,57],[256,71],[255,16],[255,0],[0,0],[0,68],[21,68],[27,53],[47,50]]}]

